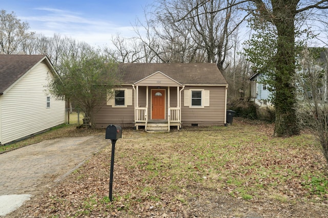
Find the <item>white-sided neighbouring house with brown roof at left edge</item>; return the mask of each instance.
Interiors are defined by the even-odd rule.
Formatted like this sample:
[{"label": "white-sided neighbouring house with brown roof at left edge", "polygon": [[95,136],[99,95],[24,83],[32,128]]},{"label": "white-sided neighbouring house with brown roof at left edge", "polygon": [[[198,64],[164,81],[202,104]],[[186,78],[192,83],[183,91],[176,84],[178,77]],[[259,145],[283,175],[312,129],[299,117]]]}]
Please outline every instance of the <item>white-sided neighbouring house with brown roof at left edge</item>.
[{"label": "white-sided neighbouring house with brown roof at left edge", "polygon": [[56,74],[45,55],[0,55],[0,144],[65,123],[65,102],[47,92]]}]

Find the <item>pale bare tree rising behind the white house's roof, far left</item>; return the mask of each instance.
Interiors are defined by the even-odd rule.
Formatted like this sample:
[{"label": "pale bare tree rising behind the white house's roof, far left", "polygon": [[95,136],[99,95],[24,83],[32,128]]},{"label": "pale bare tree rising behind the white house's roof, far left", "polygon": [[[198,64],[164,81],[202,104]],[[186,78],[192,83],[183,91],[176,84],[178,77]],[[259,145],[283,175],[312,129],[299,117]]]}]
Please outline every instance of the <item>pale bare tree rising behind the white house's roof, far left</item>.
[{"label": "pale bare tree rising behind the white house's roof, far left", "polygon": [[0,11],[0,53],[18,54],[23,53],[24,45],[33,37],[33,32],[28,32],[29,25],[17,18],[14,12],[7,14]]}]

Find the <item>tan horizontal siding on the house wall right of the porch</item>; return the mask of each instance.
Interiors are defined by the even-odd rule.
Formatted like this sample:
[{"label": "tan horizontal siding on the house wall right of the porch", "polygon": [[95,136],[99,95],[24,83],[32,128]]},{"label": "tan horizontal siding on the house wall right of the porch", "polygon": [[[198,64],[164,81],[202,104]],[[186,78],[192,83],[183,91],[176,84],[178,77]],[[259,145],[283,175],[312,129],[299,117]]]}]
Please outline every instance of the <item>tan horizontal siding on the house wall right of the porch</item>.
[{"label": "tan horizontal siding on the house wall right of the porch", "polygon": [[[226,87],[212,87],[212,86],[199,86],[199,87],[185,87],[185,90],[190,89],[203,89],[210,92],[210,106],[203,108],[184,106],[181,107],[182,126],[191,126],[191,124],[198,124],[198,126],[209,125],[224,125],[225,111],[225,98]],[[185,100],[185,91],[181,93],[181,99]]]}]

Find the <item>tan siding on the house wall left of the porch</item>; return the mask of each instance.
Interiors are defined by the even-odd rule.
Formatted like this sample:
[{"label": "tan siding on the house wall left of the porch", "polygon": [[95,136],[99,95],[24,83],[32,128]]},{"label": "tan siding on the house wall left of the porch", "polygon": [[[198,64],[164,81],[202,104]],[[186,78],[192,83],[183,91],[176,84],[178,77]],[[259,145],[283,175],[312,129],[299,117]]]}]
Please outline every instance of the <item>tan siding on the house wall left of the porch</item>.
[{"label": "tan siding on the house wall left of the porch", "polygon": [[132,90],[132,105],[127,107],[112,107],[104,103],[95,109],[96,128],[106,128],[108,125],[119,125],[121,127],[134,127],[134,90],[132,86],[122,86],[118,89]]}]

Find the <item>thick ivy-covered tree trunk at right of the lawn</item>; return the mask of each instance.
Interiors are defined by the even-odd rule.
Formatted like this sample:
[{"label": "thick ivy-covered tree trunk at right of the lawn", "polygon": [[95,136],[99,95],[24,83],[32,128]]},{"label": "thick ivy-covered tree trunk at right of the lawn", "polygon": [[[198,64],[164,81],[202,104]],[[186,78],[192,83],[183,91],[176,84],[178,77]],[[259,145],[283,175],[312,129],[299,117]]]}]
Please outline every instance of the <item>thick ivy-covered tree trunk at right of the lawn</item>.
[{"label": "thick ivy-covered tree trunk at right of the lawn", "polygon": [[293,13],[293,7],[279,7],[276,10],[274,14],[283,14],[274,19],[278,33],[275,57],[276,122],[274,135],[280,137],[297,135],[299,128],[294,107],[296,103],[295,88],[291,84],[295,74],[295,13]]}]

